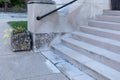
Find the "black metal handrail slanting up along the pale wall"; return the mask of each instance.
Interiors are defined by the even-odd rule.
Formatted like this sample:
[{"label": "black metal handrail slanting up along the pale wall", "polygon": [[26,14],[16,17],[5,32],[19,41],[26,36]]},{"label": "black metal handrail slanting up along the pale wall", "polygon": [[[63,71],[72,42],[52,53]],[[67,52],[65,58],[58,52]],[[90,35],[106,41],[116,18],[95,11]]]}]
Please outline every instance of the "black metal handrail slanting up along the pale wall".
[{"label": "black metal handrail slanting up along the pale wall", "polygon": [[63,5],[63,6],[59,7],[59,8],[57,8],[57,9],[55,9],[55,10],[53,10],[53,11],[47,13],[47,14],[45,14],[45,15],[43,15],[43,16],[37,16],[36,19],[37,19],[37,20],[41,20],[41,19],[43,19],[44,17],[47,17],[48,15],[50,15],[50,14],[52,14],[52,13],[54,13],[54,12],[56,12],[56,11],[64,8],[64,7],[66,7],[66,6],[72,4],[72,3],[76,2],[76,1],[77,1],[77,0],[73,0],[73,1],[67,3],[67,4],[65,4],[65,5]]}]

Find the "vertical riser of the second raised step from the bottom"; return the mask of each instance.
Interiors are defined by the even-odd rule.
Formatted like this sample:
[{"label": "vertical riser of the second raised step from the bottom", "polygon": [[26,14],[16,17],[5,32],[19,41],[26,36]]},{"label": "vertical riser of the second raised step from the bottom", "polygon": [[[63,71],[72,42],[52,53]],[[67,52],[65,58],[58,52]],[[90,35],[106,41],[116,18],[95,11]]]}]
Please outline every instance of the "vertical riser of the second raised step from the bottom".
[{"label": "vertical riser of the second raised step from the bottom", "polygon": [[97,61],[99,61],[99,62],[101,62],[101,63],[103,63],[103,64],[105,64],[105,65],[108,65],[108,66],[110,66],[110,67],[112,67],[112,68],[115,68],[116,70],[120,71],[120,67],[119,67],[119,66],[120,66],[120,63],[119,63],[119,62],[116,62],[116,61],[114,61],[114,60],[111,60],[110,58],[107,58],[107,57],[105,57],[105,56],[99,55],[99,54],[97,54],[97,53],[90,52],[90,51],[88,51],[88,50],[86,50],[86,49],[83,49],[83,48],[81,48],[81,47],[78,47],[78,46],[76,46],[76,45],[73,45],[72,43],[69,43],[69,42],[67,42],[67,41],[62,40],[62,43],[63,43],[65,46],[67,46],[67,47],[69,47],[69,48],[71,48],[71,49],[73,49],[73,50],[75,50],[75,51],[82,52],[83,55],[88,56],[89,58],[92,58],[92,59],[94,59],[94,60],[97,60]]}]

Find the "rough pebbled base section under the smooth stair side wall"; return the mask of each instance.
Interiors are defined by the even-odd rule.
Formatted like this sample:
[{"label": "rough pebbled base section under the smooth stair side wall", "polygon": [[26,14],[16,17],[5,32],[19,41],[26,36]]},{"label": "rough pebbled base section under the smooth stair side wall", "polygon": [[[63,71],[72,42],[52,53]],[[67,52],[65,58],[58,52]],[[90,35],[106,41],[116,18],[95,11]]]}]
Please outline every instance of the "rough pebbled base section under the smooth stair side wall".
[{"label": "rough pebbled base section under the smooth stair side wall", "polygon": [[[65,33],[39,33],[35,34],[35,49],[36,50],[45,50],[45,48],[50,48],[51,42],[55,38],[59,38],[60,36],[63,36]],[[59,36],[59,37],[58,37]],[[57,41],[55,41],[57,42]]]}]

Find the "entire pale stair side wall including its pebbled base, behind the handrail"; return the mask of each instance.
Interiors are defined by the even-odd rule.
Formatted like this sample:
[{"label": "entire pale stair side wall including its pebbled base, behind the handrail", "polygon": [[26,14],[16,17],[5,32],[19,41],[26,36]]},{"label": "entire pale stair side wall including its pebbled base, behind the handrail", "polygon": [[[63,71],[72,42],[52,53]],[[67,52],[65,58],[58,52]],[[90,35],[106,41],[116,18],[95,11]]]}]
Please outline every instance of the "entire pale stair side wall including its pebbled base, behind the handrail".
[{"label": "entire pale stair side wall including its pebbled base, behind the handrail", "polygon": [[96,15],[101,15],[103,10],[110,9],[109,0],[78,0],[40,21],[36,20],[37,16],[42,16],[71,0],[54,1],[56,4],[28,4],[28,29],[33,33],[35,49],[47,49],[51,44],[60,42],[62,33],[77,31],[80,26],[87,25],[89,19],[94,19]]}]

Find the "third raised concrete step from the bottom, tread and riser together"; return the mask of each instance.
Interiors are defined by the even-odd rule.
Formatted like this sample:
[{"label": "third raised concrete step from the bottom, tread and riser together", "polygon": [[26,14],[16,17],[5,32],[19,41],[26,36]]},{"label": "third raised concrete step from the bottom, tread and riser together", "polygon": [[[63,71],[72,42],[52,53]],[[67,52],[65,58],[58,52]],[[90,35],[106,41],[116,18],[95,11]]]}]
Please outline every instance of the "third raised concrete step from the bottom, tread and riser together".
[{"label": "third raised concrete step from the bottom, tread and riser together", "polygon": [[87,42],[95,46],[99,46],[101,48],[120,54],[120,41],[99,37],[91,34],[86,34],[83,32],[74,32],[72,33],[72,35],[73,38],[77,40]]}]

